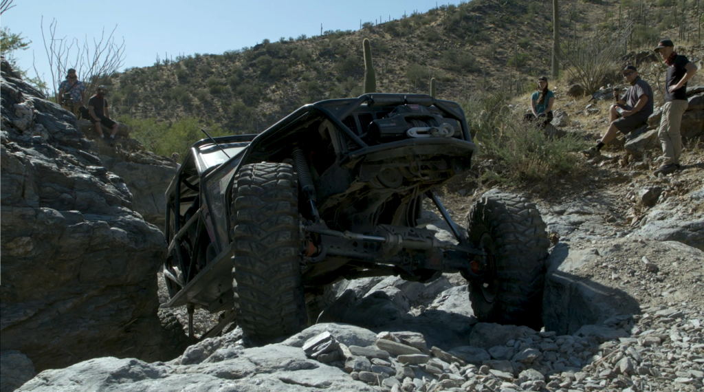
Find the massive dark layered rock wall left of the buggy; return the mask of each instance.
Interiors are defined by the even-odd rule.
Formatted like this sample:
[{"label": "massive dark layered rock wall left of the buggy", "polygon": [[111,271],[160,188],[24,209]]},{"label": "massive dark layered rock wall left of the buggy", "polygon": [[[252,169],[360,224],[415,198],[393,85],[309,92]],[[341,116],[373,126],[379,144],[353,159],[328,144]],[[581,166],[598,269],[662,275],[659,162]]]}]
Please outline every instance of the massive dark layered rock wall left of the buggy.
[{"label": "massive dark layered rock wall left of the buggy", "polygon": [[163,234],[132,210],[75,117],[1,68],[0,349],[39,371],[175,356],[156,315]]}]

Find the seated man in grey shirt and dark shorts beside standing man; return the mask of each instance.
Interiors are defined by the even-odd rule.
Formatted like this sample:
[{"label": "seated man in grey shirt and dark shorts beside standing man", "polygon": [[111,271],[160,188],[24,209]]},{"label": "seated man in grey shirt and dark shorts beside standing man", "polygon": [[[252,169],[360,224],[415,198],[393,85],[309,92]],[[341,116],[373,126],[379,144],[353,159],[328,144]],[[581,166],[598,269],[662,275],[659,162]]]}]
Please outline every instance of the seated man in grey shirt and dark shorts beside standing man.
[{"label": "seated man in grey shirt and dark shorts beside standing man", "polygon": [[653,114],[653,89],[650,84],[641,79],[633,65],[627,65],[623,69],[623,75],[631,87],[622,97],[619,97],[618,90],[614,89],[616,103],[609,108],[609,128],[596,146],[582,151],[586,156],[600,155],[601,148],[614,139],[617,131],[629,134],[646,125],[648,117]]}]

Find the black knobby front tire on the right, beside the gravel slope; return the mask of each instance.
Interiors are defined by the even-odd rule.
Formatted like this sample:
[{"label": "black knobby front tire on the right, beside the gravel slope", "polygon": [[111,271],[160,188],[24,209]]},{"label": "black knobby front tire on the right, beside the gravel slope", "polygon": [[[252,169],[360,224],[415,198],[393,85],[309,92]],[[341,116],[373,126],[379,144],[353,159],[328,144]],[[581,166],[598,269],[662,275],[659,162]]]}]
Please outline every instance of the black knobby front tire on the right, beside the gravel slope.
[{"label": "black knobby front tire on the right, beside the gravel slope", "polygon": [[491,191],[467,215],[469,240],[488,253],[482,281],[470,280],[470,301],[480,322],[540,329],[546,225],[528,198]]}]

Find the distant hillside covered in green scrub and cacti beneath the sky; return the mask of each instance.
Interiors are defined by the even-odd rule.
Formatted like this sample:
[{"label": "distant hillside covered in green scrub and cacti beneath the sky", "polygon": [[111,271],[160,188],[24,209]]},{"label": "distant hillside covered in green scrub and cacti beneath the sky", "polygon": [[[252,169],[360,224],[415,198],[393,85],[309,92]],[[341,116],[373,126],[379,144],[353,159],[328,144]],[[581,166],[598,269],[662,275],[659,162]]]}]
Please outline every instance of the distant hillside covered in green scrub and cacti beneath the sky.
[{"label": "distant hillside covered in green scrub and cacti beneath the sky", "polygon": [[[673,1],[620,3],[560,1],[562,42],[589,46],[631,19],[630,51],[650,49],[661,32],[677,37]],[[694,20],[693,2],[686,5],[684,17]],[[115,75],[111,99],[115,113],[130,118],[174,122],[191,116],[228,133],[256,133],[305,103],[360,95],[364,37],[372,42],[379,92],[428,93],[435,77],[444,99],[466,101],[483,91],[521,94],[535,88],[536,75],[550,73],[551,29],[551,2],[474,0],[354,32],[262,37],[269,39],[251,48],[164,58]]]}]

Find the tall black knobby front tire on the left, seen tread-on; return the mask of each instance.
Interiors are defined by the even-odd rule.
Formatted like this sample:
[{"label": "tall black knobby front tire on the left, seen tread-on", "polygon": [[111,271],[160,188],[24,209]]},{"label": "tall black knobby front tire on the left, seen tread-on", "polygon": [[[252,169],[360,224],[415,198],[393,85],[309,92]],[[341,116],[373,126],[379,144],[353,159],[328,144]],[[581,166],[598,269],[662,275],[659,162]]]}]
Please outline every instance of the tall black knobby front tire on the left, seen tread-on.
[{"label": "tall black knobby front tire on the left, seen tread-on", "polygon": [[268,343],[306,326],[300,272],[298,182],[286,163],[241,167],[232,192],[237,323]]}]

